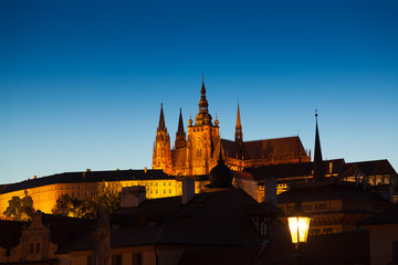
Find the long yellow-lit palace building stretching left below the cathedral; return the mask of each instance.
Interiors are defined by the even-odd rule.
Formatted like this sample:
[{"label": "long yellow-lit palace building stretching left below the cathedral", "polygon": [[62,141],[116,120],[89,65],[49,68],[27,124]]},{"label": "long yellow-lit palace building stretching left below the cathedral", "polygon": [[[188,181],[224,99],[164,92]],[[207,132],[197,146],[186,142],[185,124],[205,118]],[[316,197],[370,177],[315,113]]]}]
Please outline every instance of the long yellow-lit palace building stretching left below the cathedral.
[{"label": "long yellow-lit palace building stretching left below the cathedral", "polygon": [[[195,178],[196,192],[199,193],[209,181],[206,177]],[[144,186],[147,199],[176,197],[182,194],[181,179],[164,173],[161,170],[113,170],[66,172],[34,178],[18,183],[6,184],[0,190],[0,215],[2,216],[12,197],[32,197],[33,208],[51,213],[59,197],[84,199],[94,197],[102,186],[122,190],[124,187]]]}]

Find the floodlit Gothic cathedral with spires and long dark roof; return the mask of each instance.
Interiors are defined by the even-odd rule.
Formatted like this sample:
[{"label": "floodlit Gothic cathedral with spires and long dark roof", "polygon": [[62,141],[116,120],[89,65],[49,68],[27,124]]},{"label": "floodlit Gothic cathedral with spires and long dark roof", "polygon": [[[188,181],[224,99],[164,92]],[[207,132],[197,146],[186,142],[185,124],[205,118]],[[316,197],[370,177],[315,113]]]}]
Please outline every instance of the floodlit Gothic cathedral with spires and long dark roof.
[{"label": "floodlit Gothic cathedral with spires and long dark roof", "polygon": [[172,149],[161,105],[159,126],[154,144],[153,169],[163,169],[166,173],[174,176],[208,174],[217,165],[220,150],[224,163],[237,171],[266,165],[311,161],[311,153],[305,151],[298,136],[243,141],[239,104],[235,139],[234,141],[221,139],[219,120],[216,116],[214,123],[212,123],[209,114],[203,81],[200,94],[199,113],[195,118],[195,124],[191,117],[188,120],[188,137],[184,129],[180,109]]}]

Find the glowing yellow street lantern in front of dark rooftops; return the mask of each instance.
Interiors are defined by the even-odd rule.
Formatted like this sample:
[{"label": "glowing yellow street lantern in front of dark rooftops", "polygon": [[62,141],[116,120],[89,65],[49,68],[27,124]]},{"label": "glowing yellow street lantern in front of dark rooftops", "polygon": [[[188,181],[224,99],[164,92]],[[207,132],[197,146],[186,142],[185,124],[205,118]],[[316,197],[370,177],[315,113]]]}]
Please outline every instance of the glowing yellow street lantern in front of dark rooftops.
[{"label": "glowing yellow street lantern in front of dark rooftops", "polygon": [[287,222],[292,236],[292,243],[295,246],[294,250],[297,263],[300,263],[301,259],[301,245],[307,240],[310,221],[311,218],[304,213],[301,201],[296,201],[294,211],[287,215]]}]

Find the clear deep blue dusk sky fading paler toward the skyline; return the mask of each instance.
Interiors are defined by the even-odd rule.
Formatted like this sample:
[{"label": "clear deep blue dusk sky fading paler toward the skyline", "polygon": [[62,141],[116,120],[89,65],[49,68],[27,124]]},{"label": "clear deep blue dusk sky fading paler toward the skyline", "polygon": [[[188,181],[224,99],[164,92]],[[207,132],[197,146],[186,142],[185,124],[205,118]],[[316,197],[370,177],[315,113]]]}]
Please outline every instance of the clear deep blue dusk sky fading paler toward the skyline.
[{"label": "clear deep blue dusk sky fading paler toward the skyline", "polygon": [[142,169],[164,103],[398,170],[398,1],[0,1],[0,183]]}]

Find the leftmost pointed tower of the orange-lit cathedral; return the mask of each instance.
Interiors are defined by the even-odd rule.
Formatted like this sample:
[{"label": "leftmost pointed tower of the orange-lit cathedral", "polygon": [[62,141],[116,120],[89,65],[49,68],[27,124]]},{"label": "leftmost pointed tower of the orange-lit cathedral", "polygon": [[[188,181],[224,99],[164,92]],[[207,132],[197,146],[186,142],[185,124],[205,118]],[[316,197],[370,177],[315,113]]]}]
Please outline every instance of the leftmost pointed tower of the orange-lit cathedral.
[{"label": "leftmost pointed tower of the orange-lit cathedral", "polygon": [[153,169],[163,169],[165,173],[172,173],[170,137],[165,125],[163,104],[160,105],[159,126],[154,144]]}]

